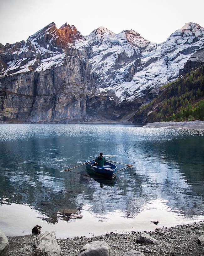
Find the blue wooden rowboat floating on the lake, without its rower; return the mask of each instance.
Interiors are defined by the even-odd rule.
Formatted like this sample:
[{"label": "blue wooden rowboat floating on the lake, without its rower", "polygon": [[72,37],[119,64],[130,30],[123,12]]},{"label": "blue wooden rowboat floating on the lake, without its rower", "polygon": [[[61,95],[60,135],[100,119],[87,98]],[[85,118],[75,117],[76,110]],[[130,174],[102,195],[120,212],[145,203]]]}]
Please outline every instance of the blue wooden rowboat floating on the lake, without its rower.
[{"label": "blue wooden rowboat floating on the lake, without its rower", "polygon": [[104,166],[94,166],[95,161],[89,162],[89,160],[86,160],[86,162],[86,166],[92,169],[94,172],[109,178],[114,177],[115,172],[117,171],[117,166],[111,164],[110,162],[105,162]]}]

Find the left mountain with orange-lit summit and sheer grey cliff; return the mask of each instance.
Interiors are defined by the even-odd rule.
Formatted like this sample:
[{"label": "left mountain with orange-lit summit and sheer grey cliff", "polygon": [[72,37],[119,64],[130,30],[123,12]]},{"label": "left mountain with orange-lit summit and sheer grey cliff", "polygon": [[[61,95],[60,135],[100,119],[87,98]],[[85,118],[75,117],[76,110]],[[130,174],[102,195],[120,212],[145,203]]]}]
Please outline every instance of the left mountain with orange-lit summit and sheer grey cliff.
[{"label": "left mountain with orange-lit summit and sheer grey cliff", "polygon": [[93,76],[74,47],[80,38],[74,26],[51,23],[27,41],[0,45],[0,121],[84,121]]}]

